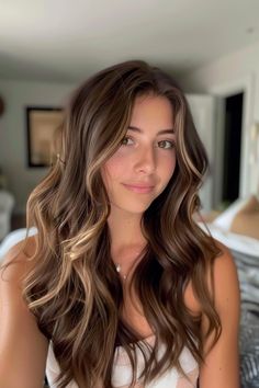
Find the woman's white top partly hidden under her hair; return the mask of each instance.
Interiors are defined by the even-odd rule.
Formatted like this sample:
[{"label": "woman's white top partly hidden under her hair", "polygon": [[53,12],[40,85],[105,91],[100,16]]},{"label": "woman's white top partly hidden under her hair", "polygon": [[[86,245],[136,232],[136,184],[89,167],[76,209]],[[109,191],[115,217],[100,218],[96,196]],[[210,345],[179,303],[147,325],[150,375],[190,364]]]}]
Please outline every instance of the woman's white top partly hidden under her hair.
[{"label": "woman's white top partly hidden under her hair", "polygon": [[[155,336],[149,336],[146,339],[150,345],[154,344]],[[158,357],[160,358],[165,352],[165,345],[160,345]],[[137,354],[137,376],[140,375],[140,372],[144,367],[144,357],[140,350],[136,349]],[[149,383],[145,386],[145,388],[194,388],[196,387],[198,376],[199,376],[199,367],[198,363],[192,356],[191,352],[183,347],[182,353],[180,354],[180,364],[182,369],[185,372],[190,380],[188,380],[184,376],[180,375],[177,368],[171,368],[167,370],[164,375],[159,376],[156,380]],[[55,379],[59,374],[59,366],[55,358],[52,343],[48,349],[48,356],[47,356],[47,365],[46,365],[46,375],[52,388],[56,388]],[[132,369],[131,363],[127,356],[126,351],[119,346],[115,351],[114,355],[114,366],[113,366],[113,374],[112,374],[112,385],[115,388],[127,388],[131,384],[132,379]],[[135,385],[135,388],[143,388],[144,385],[138,381]],[[78,385],[75,381],[71,381],[67,388],[78,388]],[[101,388],[101,387],[97,387]]]}]

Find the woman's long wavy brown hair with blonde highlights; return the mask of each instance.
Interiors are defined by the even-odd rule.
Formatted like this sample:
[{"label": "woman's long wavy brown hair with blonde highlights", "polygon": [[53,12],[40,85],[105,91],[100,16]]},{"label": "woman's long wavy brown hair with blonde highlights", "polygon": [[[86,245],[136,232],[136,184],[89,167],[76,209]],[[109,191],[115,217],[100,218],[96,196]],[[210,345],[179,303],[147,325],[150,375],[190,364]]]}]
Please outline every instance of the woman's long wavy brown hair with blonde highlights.
[{"label": "woman's long wavy brown hair with blonde highlights", "polygon": [[[111,258],[110,205],[101,168],[122,144],[136,96],[150,93],[171,103],[177,166],[142,217],[147,247],[132,284],[156,334],[147,356],[145,341],[137,342],[121,315],[123,288]],[[52,340],[60,367],[58,387],[74,379],[79,387],[93,388],[102,380],[111,388],[117,345],[130,357],[132,385],[137,347],[145,357],[144,384],[171,367],[184,372],[179,363],[183,346],[202,364],[204,341],[213,334],[213,346],[221,335],[207,281],[219,251],[193,220],[207,158],[181,89],[140,60],[102,70],[72,94],[57,148],[57,160],[27,201],[27,228],[35,226],[38,232],[24,296],[38,328]],[[209,321],[205,335],[202,313],[193,315],[184,304],[190,282]],[[158,360],[161,342],[166,351]]]}]

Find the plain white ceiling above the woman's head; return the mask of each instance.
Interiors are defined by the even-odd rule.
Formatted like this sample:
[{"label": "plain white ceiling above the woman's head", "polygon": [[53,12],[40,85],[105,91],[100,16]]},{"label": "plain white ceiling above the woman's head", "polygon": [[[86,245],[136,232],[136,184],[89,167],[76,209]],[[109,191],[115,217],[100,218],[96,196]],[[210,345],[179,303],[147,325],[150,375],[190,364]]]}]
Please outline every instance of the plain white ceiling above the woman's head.
[{"label": "plain white ceiling above the woman's head", "polygon": [[0,0],[2,79],[75,82],[133,58],[184,73],[258,41],[258,0]]}]

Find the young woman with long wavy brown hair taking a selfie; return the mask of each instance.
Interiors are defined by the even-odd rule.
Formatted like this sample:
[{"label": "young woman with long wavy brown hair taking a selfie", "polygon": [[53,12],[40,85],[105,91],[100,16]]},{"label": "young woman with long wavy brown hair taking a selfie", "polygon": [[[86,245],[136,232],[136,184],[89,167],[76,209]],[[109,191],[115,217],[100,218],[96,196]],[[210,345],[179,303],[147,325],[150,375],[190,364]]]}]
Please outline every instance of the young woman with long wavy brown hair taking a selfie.
[{"label": "young woman with long wavy brown hair taking a selfie", "polygon": [[0,386],[237,388],[237,273],[193,220],[207,160],[182,91],[115,65],[59,135],[1,274]]}]

